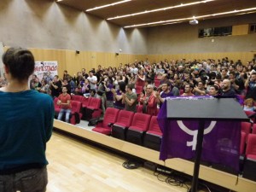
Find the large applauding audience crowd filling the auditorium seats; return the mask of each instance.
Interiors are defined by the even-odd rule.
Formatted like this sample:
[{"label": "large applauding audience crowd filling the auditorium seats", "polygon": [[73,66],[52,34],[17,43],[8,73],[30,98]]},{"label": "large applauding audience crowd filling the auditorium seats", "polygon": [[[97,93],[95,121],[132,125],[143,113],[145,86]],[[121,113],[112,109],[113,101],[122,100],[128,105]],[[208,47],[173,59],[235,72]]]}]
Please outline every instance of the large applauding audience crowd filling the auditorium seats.
[{"label": "large applauding audience crowd filling the auditorium seats", "polygon": [[[3,77],[0,85],[8,82]],[[254,110],[256,100],[256,62],[222,60],[135,61],[119,67],[85,68],[75,76],[65,70],[62,79],[32,75],[30,88],[53,98],[69,95],[101,98],[102,111],[119,108],[156,115],[168,96],[235,96],[246,100],[244,108]],[[61,97],[60,97],[61,95]],[[61,102],[59,102],[61,103]],[[67,104],[69,106],[69,104]],[[70,108],[70,107],[69,107]],[[67,109],[67,107],[66,107]],[[64,110],[64,109],[63,109]]]}]

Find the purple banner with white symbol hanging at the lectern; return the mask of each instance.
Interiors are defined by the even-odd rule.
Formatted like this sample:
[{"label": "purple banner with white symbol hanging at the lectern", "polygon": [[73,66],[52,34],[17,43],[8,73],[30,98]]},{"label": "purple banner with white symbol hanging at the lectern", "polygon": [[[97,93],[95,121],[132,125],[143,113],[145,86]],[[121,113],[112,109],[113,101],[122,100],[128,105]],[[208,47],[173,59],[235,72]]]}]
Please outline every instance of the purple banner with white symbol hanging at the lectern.
[{"label": "purple banner with white symbol hanging at the lectern", "polygon": [[[166,102],[160,108],[158,122],[163,133],[160,160],[195,158],[199,120],[166,118]],[[241,122],[206,121],[201,160],[239,170]]]}]

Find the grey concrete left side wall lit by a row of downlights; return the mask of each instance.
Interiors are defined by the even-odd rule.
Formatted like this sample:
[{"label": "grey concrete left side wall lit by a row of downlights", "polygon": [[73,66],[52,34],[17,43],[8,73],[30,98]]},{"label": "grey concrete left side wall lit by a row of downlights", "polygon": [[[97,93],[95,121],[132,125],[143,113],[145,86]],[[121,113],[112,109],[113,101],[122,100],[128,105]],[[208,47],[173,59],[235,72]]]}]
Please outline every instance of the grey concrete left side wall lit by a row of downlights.
[{"label": "grey concrete left side wall lit by a row of downlights", "polygon": [[124,30],[53,0],[1,0],[0,23],[8,46],[147,54],[146,29]]}]

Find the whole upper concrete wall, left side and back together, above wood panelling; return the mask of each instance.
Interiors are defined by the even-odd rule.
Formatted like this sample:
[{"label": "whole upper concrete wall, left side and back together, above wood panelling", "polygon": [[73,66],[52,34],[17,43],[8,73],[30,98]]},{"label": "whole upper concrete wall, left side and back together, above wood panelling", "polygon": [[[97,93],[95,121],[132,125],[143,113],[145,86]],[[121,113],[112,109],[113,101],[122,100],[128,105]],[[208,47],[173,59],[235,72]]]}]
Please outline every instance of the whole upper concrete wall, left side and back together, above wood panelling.
[{"label": "whole upper concrete wall, left side and back together, above wood panelling", "polygon": [[255,50],[256,33],[198,38],[198,29],[255,23],[256,14],[218,20],[200,20],[198,26],[181,23],[123,29],[54,0],[1,0],[0,42],[38,49],[73,49],[126,54],[186,54]]}]

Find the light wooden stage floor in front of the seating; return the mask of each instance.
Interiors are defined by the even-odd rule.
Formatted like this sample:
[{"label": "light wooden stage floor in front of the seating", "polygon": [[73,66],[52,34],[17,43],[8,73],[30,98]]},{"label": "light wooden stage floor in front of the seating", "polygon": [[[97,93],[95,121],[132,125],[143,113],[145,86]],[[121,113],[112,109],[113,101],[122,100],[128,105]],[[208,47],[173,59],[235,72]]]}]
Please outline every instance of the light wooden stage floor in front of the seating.
[{"label": "light wooden stage floor in front of the seating", "polygon": [[[47,144],[47,192],[185,192],[143,167],[125,169],[125,157],[54,132]],[[165,179],[165,177],[160,177]]]}]

